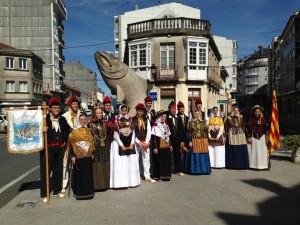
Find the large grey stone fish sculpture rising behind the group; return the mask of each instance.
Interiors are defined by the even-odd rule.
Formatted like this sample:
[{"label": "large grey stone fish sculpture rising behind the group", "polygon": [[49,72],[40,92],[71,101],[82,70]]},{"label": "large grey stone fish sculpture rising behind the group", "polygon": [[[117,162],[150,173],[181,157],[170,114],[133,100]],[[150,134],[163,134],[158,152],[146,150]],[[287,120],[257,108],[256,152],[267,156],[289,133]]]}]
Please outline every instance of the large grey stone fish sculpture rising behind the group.
[{"label": "large grey stone fish sculpture rising behind the group", "polygon": [[104,82],[117,95],[117,102],[127,104],[133,115],[134,107],[147,94],[147,81],[110,53],[96,52],[94,56]]}]

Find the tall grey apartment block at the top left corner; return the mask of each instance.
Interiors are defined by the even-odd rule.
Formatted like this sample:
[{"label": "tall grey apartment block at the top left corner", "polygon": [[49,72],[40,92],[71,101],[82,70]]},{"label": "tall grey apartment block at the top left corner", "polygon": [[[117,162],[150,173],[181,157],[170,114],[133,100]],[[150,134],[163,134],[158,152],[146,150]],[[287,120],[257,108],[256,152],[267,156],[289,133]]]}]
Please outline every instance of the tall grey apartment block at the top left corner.
[{"label": "tall grey apartment block at the top left corner", "polygon": [[67,8],[63,0],[10,0],[0,4],[1,42],[39,55],[44,64],[43,89],[61,97],[63,65],[63,20]]}]

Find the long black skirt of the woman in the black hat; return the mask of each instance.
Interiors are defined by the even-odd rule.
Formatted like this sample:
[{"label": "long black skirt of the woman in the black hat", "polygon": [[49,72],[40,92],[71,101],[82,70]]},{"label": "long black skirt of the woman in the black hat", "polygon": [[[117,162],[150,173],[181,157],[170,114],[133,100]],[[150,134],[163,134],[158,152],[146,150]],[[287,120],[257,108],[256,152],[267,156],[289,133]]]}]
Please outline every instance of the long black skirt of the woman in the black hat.
[{"label": "long black skirt of the woman in the black hat", "polygon": [[170,180],[171,176],[171,151],[169,148],[159,149],[153,156],[153,178]]}]

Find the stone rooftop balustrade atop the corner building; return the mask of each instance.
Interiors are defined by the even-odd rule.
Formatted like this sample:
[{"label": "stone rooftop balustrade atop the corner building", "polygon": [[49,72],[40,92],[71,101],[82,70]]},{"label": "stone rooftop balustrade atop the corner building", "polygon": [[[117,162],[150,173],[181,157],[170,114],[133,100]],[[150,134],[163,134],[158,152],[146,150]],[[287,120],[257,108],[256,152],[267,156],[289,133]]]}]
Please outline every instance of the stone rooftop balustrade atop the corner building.
[{"label": "stone rooftop balustrade atop the corner building", "polygon": [[190,18],[152,19],[129,24],[127,33],[129,39],[172,34],[209,35],[210,22]]}]

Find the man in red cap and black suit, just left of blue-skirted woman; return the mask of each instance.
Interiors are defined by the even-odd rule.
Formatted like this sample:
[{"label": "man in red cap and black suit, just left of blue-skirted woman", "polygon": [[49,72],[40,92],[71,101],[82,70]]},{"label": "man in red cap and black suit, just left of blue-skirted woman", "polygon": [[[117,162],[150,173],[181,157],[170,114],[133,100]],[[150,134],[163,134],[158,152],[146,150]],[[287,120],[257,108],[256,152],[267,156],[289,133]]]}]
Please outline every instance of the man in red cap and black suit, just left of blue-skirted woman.
[{"label": "man in red cap and black suit, just left of blue-skirted woman", "polygon": [[182,125],[183,125],[183,137],[184,137],[184,147],[180,148],[181,153],[181,162],[182,162],[182,171],[185,171],[185,155],[188,151],[189,142],[187,139],[188,135],[188,123],[189,123],[189,117],[184,114],[184,104],[179,101],[177,103],[177,116],[181,118]]}]

